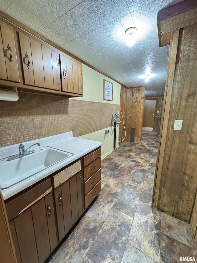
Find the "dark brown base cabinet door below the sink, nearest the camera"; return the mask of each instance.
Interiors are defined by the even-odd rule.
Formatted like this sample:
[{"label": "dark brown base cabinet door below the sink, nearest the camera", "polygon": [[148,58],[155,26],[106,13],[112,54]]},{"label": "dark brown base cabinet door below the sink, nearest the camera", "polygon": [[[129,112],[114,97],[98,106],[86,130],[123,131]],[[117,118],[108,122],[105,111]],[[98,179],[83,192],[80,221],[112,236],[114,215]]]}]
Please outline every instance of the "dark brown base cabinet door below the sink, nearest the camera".
[{"label": "dark brown base cabinet door below the sink, nearest the camera", "polygon": [[57,246],[52,192],[10,221],[17,260],[43,263]]}]

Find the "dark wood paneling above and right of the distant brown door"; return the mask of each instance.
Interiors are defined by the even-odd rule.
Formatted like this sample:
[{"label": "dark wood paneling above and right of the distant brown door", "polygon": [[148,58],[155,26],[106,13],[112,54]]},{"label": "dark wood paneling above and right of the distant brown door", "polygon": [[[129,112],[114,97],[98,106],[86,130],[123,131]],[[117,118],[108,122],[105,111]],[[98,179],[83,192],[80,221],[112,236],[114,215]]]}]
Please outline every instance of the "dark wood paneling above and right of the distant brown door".
[{"label": "dark wood paneling above and right of the distant brown door", "polygon": [[[156,100],[153,130],[159,131],[163,109],[163,96],[145,97],[145,100]],[[157,113],[159,111],[159,113]]]}]

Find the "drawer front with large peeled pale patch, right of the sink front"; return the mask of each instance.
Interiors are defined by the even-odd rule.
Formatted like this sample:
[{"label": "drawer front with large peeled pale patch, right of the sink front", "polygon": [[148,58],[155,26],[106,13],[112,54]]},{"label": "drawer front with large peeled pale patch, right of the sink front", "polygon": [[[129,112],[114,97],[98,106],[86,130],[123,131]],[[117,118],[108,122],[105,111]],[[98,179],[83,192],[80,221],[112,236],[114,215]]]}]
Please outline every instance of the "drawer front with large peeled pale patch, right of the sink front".
[{"label": "drawer front with large peeled pale patch, right of the sink front", "polygon": [[70,177],[81,171],[81,161],[74,163],[66,168],[64,171],[54,175],[54,188],[58,187],[62,183],[66,182]]}]

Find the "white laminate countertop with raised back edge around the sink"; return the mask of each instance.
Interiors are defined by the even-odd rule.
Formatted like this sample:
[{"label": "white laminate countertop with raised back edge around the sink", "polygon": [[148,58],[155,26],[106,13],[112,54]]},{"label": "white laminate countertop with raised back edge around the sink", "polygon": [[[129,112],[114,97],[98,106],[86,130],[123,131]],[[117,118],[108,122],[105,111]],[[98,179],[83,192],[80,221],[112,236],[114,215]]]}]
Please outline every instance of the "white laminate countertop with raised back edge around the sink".
[{"label": "white laminate countertop with raised back edge around the sink", "polygon": [[[31,146],[34,143],[40,143],[40,146],[50,146],[59,150],[67,151],[70,153],[73,153],[71,157],[62,160],[45,170],[32,175],[31,177],[9,187],[6,189],[2,189],[2,194],[4,200],[10,198],[11,196],[19,193],[20,191],[26,189],[27,187],[33,185],[34,183],[37,183],[41,179],[45,178],[46,176],[54,173],[55,171],[58,171],[62,167],[70,164],[71,162],[77,160],[78,158],[81,158],[83,155],[89,153],[90,151],[98,148],[102,145],[102,142],[97,141],[91,141],[81,138],[75,138],[73,137],[72,132],[62,133],[46,138],[41,138],[34,141],[29,142],[22,142],[25,146],[25,149],[27,149],[29,146]],[[5,158],[10,155],[18,154],[18,145],[10,145],[0,148],[0,159]],[[39,146],[39,147],[40,147]],[[33,146],[33,148],[36,148],[37,146]],[[10,161],[11,165],[11,161]],[[0,171],[1,172],[1,171]]]}]

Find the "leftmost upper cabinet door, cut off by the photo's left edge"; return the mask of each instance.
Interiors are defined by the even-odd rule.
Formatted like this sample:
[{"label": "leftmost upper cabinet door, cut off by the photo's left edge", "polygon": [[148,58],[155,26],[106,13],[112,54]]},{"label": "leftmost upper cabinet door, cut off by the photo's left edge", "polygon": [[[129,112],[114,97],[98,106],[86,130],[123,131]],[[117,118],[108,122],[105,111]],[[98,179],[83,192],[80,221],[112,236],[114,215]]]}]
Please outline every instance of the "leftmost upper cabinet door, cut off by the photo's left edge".
[{"label": "leftmost upper cabinet door, cut off by the photo's left edge", "polygon": [[0,22],[0,78],[20,82],[13,28]]}]

